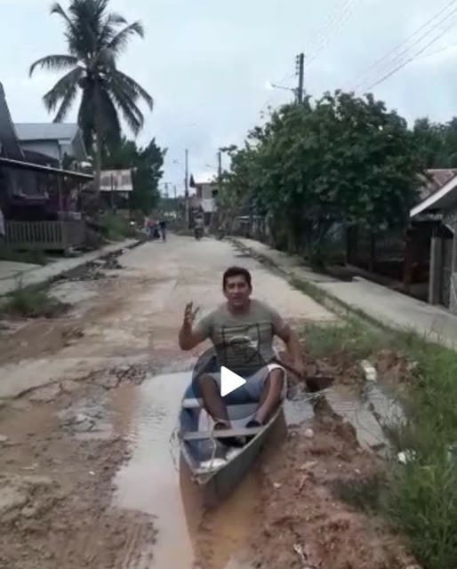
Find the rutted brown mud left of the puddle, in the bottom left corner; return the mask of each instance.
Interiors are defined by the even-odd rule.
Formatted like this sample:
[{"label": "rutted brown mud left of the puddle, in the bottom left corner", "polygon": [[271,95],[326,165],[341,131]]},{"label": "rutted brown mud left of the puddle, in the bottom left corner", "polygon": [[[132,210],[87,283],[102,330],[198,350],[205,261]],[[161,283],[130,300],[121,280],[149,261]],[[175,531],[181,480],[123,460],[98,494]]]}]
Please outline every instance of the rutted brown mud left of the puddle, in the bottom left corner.
[{"label": "rutted brown mud left of the puddle, in the bottom left corner", "polygon": [[[92,402],[100,389],[92,386]],[[11,445],[0,455],[0,567],[124,567],[155,540],[152,520],[110,506],[112,478],[129,456],[124,438],[78,440],[65,397],[2,413]]]}]

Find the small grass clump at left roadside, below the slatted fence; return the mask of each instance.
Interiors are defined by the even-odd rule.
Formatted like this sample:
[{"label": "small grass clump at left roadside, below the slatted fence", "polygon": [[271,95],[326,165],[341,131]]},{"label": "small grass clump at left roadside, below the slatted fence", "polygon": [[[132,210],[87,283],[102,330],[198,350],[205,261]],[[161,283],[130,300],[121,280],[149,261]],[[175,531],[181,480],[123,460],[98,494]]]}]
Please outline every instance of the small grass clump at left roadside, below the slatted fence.
[{"label": "small grass clump at left roadside, below the slatted fence", "polygon": [[44,286],[22,286],[6,296],[2,312],[10,317],[52,318],[58,317],[68,309],[68,304],[52,298],[49,288]]}]

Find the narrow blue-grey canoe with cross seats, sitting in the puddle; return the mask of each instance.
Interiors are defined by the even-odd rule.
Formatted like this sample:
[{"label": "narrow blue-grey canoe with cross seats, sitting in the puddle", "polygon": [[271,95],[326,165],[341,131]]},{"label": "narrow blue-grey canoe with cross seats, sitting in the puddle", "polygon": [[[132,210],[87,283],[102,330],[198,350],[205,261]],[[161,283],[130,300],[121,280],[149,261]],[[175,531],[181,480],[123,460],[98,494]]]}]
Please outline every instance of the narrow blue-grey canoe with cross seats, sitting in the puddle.
[{"label": "narrow blue-grey canoe with cross seats, sitting in the puddle", "polygon": [[[180,452],[193,480],[202,490],[202,498],[207,506],[226,498],[245,477],[284,411],[283,397],[266,425],[246,429],[245,424],[253,418],[258,403],[246,400],[243,388],[224,399],[232,423],[232,428],[227,430],[211,429],[211,420],[203,409],[201,399],[195,397],[192,386],[186,390],[180,407]],[[219,456],[220,447],[224,447],[218,445],[218,453],[214,454],[216,439],[245,436],[253,436],[245,446],[230,448],[228,453]]]}]

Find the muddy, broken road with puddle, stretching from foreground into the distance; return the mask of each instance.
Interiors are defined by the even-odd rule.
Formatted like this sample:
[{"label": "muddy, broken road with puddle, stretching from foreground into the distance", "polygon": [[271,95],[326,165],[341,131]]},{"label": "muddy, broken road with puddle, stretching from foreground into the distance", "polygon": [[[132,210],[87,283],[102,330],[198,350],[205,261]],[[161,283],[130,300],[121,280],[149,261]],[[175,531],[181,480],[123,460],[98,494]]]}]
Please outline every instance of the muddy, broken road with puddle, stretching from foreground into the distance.
[{"label": "muddy, broken road with puddle, stretching from foreground into the distance", "polygon": [[[99,278],[54,285],[52,294],[72,304],[64,317],[0,325],[0,568],[407,566],[384,530],[335,510],[309,474],[330,477],[328,460],[349,476],[374,459],[339,418],[312,419],[308,404],[291,403],[287,418],[315,421],[313,440],[289,429],[218,509],[200,507],[180,468],[172,434],[204,349],[177,346],[186,302],[202,312],[218,304],[221,273],[237,264],[252,271],[254,296],[292,322],[333,315],[227,242],[171,236],[119,262],[100,267]],[[297,498],[297,485],[310,501]],[[381,561],[365,565],[373,540]],[[360,563],[357,546],[365,547]]]}]

